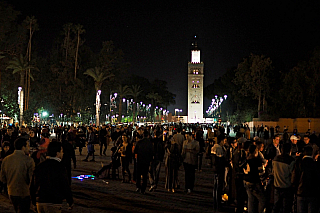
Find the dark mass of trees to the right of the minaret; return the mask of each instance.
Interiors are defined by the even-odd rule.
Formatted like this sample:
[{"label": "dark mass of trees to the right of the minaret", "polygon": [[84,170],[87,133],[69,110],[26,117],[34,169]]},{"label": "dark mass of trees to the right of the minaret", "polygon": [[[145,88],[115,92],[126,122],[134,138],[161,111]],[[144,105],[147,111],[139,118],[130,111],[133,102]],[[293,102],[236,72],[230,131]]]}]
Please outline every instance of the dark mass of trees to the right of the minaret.
[{"label": "dark mass of trees to the right of the minaret", "polygon": [[280,117],[320,116],[320,49],[292,69],[281,69],[264,55],[251,54],[205,88],[210,100],[215,95],[228,99],[221,117],[232,123],[276,120]]}]

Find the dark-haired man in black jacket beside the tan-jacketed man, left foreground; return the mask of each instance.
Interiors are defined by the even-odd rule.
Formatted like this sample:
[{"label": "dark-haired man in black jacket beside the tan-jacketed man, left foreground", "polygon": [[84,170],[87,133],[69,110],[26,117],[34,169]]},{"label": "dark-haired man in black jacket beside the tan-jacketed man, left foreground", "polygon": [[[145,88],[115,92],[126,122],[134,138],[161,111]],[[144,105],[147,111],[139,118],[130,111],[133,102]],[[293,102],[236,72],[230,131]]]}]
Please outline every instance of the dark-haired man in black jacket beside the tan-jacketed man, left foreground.
[{"label": "dark-haired man in black jacket beside the tan-jacketed man, left foreground", "polygon": [[35,169],[30,185],[32,204],[38,212],[61,212],[63,200],[69,208],[73,206],[73,197],[65,167],[62,165],[62,144],[51,142],[47,159]]}]

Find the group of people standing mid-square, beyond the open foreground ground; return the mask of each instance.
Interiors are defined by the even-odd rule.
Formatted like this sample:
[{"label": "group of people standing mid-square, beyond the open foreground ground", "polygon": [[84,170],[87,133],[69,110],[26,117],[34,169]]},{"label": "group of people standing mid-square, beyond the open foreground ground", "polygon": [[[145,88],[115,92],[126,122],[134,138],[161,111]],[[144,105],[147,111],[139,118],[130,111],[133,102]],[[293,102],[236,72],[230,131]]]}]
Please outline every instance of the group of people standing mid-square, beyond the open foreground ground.
[{"label": "group of people standing mid-square, beyond the open foreground ground", "polygon": [[[165,188],[173,193],[180,188],[178,170],[183,165],[185,192],[193,191],[195,170],[198,168],[198,159],[202,161],[204,150],[202,130],[192,133],[182,131],[180,128],[174,130],[173,127],[163,129],[161,126],[153,128],[142,126],[132,134],[123,130],[125,129],[117,128],[110,134],[114,144],[114,147],[111,148],[112,161],[98,172],[93,172],[95,175],[100,176],[104,171],[111,170],[114,177],[115,170],[121,162],[123,182],[135,183],[136,191],[145,194],[148,180],[150,182],[149,191],[157,189],[161,163],[164,161]],[[133,175],[129,169],[130,162],[134,164]]]}]

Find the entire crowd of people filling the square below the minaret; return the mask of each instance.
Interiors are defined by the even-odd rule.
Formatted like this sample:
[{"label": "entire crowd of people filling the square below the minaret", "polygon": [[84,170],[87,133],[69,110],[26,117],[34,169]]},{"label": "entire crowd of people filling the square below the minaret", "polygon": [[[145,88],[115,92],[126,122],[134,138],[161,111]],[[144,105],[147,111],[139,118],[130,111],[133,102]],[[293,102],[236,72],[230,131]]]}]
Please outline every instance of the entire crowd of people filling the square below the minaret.
[{"label": "entire crowd of people filling the square below the minaret", "polygon": [[180,189],[178,171],[183,168],[185,186],[181,188],[192,193],[196,171],[202,172],[206,160],[214,173],[214,209],[231,205],[236,212],[247,208],[249,213],[319,211],[319,138],[314,133],[300,137],[297,132],[290,136],[276,130],[272,139],[266,140],[260,133],[255,136],[255,130],[250,133],[247,126],[234,128],[236,136],[230,137],[230,127],[192,124],[82,125],[51,131],[55,138],[49,139],[48,128],[22,126],[0,131],[0,192],[9,195],[16,212],[28,212],[30,203],[38,212],[59,212],[64,199],[72,208],[75,149],[82,155],[86,146],[86,157],[81,160],[94,162],[95,144],[100,146],[100,156],[105,156],[111,145],[112,155],[108,165],[92,173],[116,179],[121,168],[122,182],[134,183],[142,194],[148,182],[149,192],[157,190],[161,165],[165,167],[164,187],[168,192]]}]

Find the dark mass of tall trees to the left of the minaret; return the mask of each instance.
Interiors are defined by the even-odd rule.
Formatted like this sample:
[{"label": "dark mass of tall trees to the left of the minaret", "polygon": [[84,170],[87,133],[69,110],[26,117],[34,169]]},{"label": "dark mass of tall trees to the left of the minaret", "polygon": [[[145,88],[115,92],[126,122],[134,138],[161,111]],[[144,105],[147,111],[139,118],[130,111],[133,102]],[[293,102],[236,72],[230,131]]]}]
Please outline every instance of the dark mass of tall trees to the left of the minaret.
[{"label": "dark mass of tall trees to the left of the minaret", "polygon": [[[56,117],[63,114],[70,121],[77,121],[77,113],[81,113],[81,119],[88,121],[95,115],[97,90],[101,90],[101,122],[110,112],[110,94],[118,94],[113,113],[119,113],[119,117],[125,111],[122,98],[152,104],[151,115],[156,106],[166,109],[175,103],[175,95],[168,91],[165,81],[150,82],[129,75],[130,64],[123,52],[107,38],[100,51],[93,52],[86,45],[83,26],[66,23],[51,49],[44,50],[39,40],[46,38],[36,36],[41,30],[36,17],[20,19],[19,11],[0,2],[0,96],[6,115],[19,116],[18,87],[24,92],[26,123],[31,122],[33,113],[42,110]],[[40,54],[44,52],[47,54]],[[131,116],[139,113],[137,110],[133,105]]]}]

